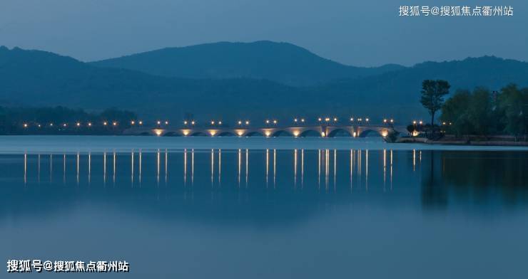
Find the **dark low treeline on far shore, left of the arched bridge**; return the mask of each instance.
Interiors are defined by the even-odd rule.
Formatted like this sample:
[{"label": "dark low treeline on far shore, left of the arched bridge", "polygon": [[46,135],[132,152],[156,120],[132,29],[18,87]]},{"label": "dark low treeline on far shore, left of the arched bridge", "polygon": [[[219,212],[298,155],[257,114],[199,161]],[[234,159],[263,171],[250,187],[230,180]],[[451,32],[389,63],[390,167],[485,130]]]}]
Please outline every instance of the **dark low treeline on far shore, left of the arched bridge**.
[{"label": "dark low treeline on far shore, left of the arched bridge", "polygon": [[137,119],[114,108],[100,113],[66,107],[0,107],[0,135],[119,134]]}]

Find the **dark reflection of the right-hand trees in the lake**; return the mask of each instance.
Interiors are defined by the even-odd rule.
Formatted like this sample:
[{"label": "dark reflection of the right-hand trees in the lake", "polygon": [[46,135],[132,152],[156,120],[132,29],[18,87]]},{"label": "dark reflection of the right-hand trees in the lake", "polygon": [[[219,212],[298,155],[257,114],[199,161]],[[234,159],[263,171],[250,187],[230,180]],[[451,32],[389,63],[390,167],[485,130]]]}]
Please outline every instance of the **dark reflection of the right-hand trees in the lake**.
[{"label": "dark reflection of the right-hand trees in the lake", "polygon": [[528,201],[528,152],[424,152],[422,202],[447,206],[447,199],[515,205]]}]

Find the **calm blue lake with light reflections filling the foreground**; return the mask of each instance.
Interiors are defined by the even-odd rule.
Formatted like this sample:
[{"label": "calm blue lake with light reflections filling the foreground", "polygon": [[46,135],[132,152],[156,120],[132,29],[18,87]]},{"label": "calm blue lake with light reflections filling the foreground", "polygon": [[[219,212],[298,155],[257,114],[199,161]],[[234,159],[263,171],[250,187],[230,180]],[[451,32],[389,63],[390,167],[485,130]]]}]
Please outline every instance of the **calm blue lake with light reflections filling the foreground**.
[{"label": "calm blue lake with light reflections filling the foreground", "polygon": [[528,148],[0,137],[0,220],[6,261],[130,264],[1,278],[524,278]]}]

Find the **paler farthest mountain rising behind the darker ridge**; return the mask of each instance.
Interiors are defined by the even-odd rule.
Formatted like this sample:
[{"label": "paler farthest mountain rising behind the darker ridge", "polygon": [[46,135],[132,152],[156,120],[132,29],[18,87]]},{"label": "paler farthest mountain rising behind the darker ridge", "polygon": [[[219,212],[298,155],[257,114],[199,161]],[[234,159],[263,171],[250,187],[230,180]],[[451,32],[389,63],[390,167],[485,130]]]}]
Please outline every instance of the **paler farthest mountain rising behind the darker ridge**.
[{"label": "paler farthest mountain rising behind the darker ridge", "polygon": [[207,43],[112,58],[91,63],[178,78],[254,78],[295,86],[362,78],[404,68],[360,68],[321,58],[290,43]]}]

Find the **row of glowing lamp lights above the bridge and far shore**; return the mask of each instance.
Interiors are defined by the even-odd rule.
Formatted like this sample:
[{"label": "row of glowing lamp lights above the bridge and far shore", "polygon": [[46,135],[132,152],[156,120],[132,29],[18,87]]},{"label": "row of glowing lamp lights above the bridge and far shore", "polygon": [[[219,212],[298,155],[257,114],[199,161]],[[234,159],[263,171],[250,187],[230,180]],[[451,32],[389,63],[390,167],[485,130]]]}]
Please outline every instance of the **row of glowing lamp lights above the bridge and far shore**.
[{"label": "row of glowing lamp lights above the bridge and far shore", "polygon": [[[358,118],[350,117],[350,122],[357,123],[357,124],[362,124],[362,125],[368,125],[368,124],[370,124],[370,118],[368,118],[368,117],[365,117],[365,118],[362,118],[362,117],[358,117]],[[394,122],[395,122],[394,119],[387,119],[387,118],[383,119],[383,124],[385,124],[385,125],[394,125]],[[293,123],[290,123],[290,124],[293,124],[293,125],[305,125],[306,123],[307,122],[306,122],[305,118],[294,118],[293,119]],[[337,117],[319,117],[317,119],[317,125],[337,125],[338,123],[340,123],[340,122],[339,122]],[[417,123],[420,123],[420,125],[422,125],[422,121],[417,122],[415,120],[412,123],[415,124],[415,125]],[[103,124],[104,127],[117,127],[119,125],[119,123],[117,121],[113,121],[113,122],[104,121],[102,124]],[[278,120],[275,120],[275,119],[269,120],[268,119],[268,120],[264,121],[264,124],[266,126],[276,126],[276,125],[278,125]],[[143,121],[142,120],[131,120],[130,125],[131,126],[143,126]],[[158,120],[158,121],[156,121],[156,125],[158,127],[161,127],[162,125],[168,126],[169,122],[167,120],[166,121]],[[195,120],[184,120],[183,121],[183,125],[186,126],[186,127],[188,127],[188,126],[196,126],[197,122]],[[208,125],[210,127],[214,127],[214,126],[220,127],[220,126],[223,126],[224,123],[222,122],[222,120],[210,120]],[[236,122],[236,125],[238,127],[249,126],[250,125],[250,120],[238,120]],[[24,128],[27,128],[29,126],[30,126],[29,123],[24,123]],[[36,124],[35,126],[42,127],[41,124]],[[49,123],[46,126],[55,127],[54,123]],[[81,127],[81,126],[93,127],[94,124],[93,124],[93,122],[87,122],[86,125],[83,125],[83,123],[81,123],[81,122],[76,122],[76,123],[74,123],[73,126],[74,127]],[[68,123],[62,123],[58,127],[68,127]]]}]

